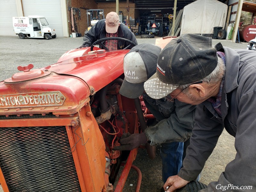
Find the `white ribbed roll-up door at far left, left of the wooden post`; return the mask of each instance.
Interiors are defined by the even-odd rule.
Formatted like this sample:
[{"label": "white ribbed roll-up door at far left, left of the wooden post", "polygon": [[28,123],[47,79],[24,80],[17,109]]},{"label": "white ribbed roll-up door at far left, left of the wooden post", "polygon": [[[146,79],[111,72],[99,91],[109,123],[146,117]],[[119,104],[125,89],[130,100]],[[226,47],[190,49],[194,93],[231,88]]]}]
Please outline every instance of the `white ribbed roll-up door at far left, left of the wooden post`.
[{"label": "white ribbed roll-up door at far left, left of the wooden post", "polygon": [[15,0],[0,0],[0,35],[16,36],[13,31],[12,17],[17,17]]}]

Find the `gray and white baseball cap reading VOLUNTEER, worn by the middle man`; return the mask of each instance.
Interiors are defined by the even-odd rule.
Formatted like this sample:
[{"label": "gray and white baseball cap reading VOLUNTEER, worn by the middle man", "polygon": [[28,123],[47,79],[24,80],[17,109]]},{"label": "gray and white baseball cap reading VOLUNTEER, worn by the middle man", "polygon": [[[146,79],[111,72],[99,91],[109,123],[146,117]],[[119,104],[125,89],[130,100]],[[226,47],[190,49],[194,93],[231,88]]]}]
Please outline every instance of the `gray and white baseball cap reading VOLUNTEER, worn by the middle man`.
[{"label": "gray and white baseball cap reading VOLUNTEER, worn by the middle man", "polygon": [[153,44],[139,44],[124,56],[124,82],[119,93],[135,99],[144,91],[144,82],[156,73],[161,48]]}]

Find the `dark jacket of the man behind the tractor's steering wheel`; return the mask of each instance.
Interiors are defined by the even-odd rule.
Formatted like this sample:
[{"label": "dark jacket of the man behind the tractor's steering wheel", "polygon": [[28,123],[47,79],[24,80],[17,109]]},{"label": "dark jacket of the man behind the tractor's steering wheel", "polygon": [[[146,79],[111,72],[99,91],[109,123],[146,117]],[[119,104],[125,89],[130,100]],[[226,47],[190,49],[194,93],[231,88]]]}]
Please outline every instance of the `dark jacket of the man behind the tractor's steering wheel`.
[{"label": "dark jacket of the man behind the tractor's steering wheel", "polygon": [[[83,47],[90,47],[95,41],[105,38],[106,37],[106,27],[105,27],[105,19],[99,20],[95,25],[92,26],[89,31],[84,32],[84,41],[83,41]],[[132,31],[123,23],[120,24],[118,27],[118,37],[122,37],[124,39],[128,39],[135,43],[136,45],[137,40],[135,35],[132,33]],[[118,49],[124,49],[127,47],[129,43],[124,41],[118,41]],[[129,49],[132,49],[132,45],[129,47]],[[100,45],[100,48],[102,49],[102,46]]]}]

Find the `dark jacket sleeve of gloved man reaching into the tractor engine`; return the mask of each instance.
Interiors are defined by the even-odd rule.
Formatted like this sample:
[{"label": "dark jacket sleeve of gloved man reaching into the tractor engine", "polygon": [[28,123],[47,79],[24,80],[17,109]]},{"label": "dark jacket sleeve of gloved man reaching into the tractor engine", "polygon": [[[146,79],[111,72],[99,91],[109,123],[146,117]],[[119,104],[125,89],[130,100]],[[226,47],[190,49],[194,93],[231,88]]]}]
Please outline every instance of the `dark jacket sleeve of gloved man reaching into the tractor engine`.
[{"label": "dark jacket sleeve of gloved man reaching into the tractor engine", "polygon": [[194,116],[196,106],[182,103],[177,99],[174,102],[175,111],[167,119],[163,119],[158,124],[148,127],[145,130],[151,145],[158,143],[186,141],[191,136],[192,128],[195,124]]}]

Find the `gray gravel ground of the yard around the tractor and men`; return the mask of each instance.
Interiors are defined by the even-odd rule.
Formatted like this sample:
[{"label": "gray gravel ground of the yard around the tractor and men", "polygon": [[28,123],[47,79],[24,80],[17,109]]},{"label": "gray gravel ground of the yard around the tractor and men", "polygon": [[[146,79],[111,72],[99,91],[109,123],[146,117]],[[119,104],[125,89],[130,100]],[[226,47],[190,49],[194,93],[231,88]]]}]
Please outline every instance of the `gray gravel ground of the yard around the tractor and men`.
[{"label": "gray gravel ground of the yard around the tractor and men", "polygon": [[[155,44],[155,37],[152,39],[141,39],[137,36],[137,41],[141,43]],[[60,56],[82,44],[83,37],[56,39],[20,39],[18,36],[0,36],[0,81],[10,78],[13,73],[18,72],[17,66],[26,66],[29,63],[34,68],[42,68],[56,63]],[[221,42],[223,46],[233,49],[246,49],[247,43],[233,43],[230,40],[213,39],[213,45]],[[156,159],[150,160],[145,149],[139,149],[134,165],[142,172],[142,182],[140,192],[154,192],[163,186],[162,163],[157,147]],[[220,173],[225,170],[226,164],[234,159],[236,154],[234,148],[234,138],[224,131],[214,149],[212,155],[207,160],[201,177],[201,182],[208,184],[218,180]],[[131,170],[123,192],[135,191],[137,183],[137,173]],[[132,184],[132,186],[130,186]],[[1,191],[1,190],[0,190]]]}]

